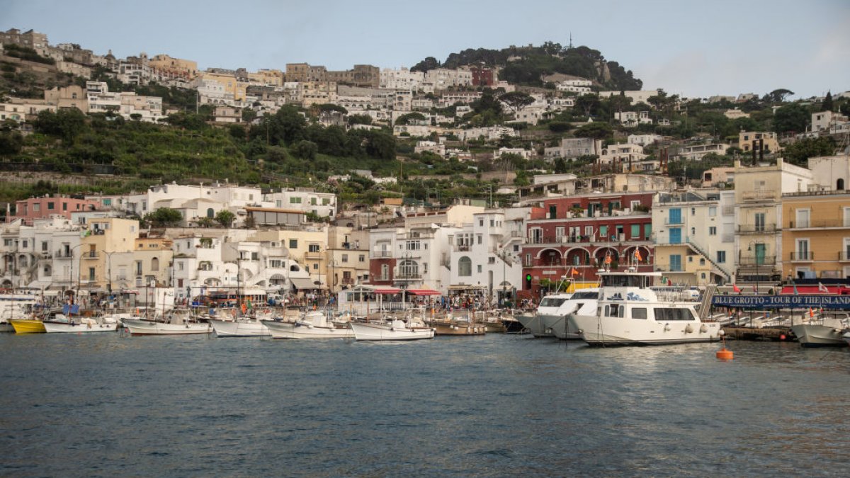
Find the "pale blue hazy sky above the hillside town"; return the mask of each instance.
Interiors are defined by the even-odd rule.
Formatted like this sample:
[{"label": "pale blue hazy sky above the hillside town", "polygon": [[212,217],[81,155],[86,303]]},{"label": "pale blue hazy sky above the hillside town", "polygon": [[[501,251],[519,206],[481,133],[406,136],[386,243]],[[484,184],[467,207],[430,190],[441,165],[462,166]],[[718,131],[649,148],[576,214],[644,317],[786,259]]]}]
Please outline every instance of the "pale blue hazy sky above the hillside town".
[{"label": "pale blue hazy sky above the hillside town", "polygon": [[145,52],[201,69],[412,66],[466,48],[552,41],[600,51],[688,98],[792,99],[850,90],[850,0],[0,0],[0,29],[34,29],[118,58]]}]

